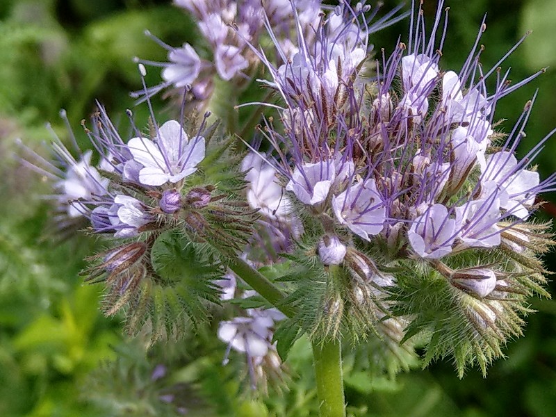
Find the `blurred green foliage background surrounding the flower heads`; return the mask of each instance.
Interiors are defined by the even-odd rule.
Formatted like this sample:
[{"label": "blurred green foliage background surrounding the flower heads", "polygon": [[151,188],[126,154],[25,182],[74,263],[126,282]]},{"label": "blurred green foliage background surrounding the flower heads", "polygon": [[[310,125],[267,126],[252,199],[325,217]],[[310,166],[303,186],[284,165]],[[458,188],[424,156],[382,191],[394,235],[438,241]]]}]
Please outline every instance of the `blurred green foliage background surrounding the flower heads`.
[{"label": "blurred green foliage background surrounding the flower heads", "polygon": [[[398,2],[385,3],[388,10]],[[443,69],[459,69],[485,12],[485,68],[530,29],[532,35],[503,64],[512,67],[511,78],[523,79],[556,63],[556,0],[468,0],[447,5],[451,6],[450,28]],[[436,2],[427,0],[424,8],[432,15]],[[50,139],[45,122],[67,138],[58,117],[60,108],[67,109],[84,146],[79,121],[95,111],[95,99],[116,119],[124,118],[124,110],[133,106],[129,92],[140,88],[133,56],[165,59],[165,51],[143,35],[146,28],[174,46],[195,44],[194,24],[168,1],[0,0],[0,416],[147,416],[157,412],[170,416],[175,407],[156,411],[138,406],[146,401],[149,390],[158,393],[158,388],[149,385],[156,361],[179,363],[172,384],[181,384],[180,395],[188,395],[186,382],[202,379],[197,384],[201,399],[184,400],[190,409],[204,407],[203,395],[218,394],[220,407],[211,413],[265,416],[268,407],[279,410],[272,398],[266,406],[261,400],[232,398],[233,372],[220,369],[222,345],[200,358],[188,353],[195,351],[193,347],[176,353],[181,347],[162,346],[151,354],[150,359],[156,360],[147,361],[136,348],[138,342],[122,336],[120,321],[99,313],[99,286],[83,286],[77,276],[84,266],[82,259],[101,243],[85,236],[65,242],[44,238],[49,205],[40,195],[47,188],[38,175],[19,167],[13,158],[19,152],[16,138],[33,149]],[[398,33],[407,33],[407,20],[373,35],[372,42],[389,51]],[[147,81],[154,85],[158,77],[150,70]],[[504,124],[508,131],[537,88],[528,136],[519,149],[522,155],[556,126],[556,70],[549,68],[497,106],[496,119],[508,119]],[[170,117],[161,97],[154,99],[154,106],[161,119]],[[140,119],[145,110],[134,112]],[[541,177],[556,170],[555,155],[556,138],[537,161]],[[549,203],[538,217],[552,220],[556,211],[550,202],[556,202],[556,195],[544,197]],[[546,263],[556,270],[553,254],[546,256]],[[550,293],[556,294],[556,286],[551,283],[550,287]],[[460,381],[451,363],[402,373],[395,381],[385,375],[371,382],[364,373],[348,373],[350,410],[359,416],[556,416],[556,302],[532,300],[532,308],[538,313],[528,319],[525,337],[509,343],[508,359],[495,363],[486,379],[477,370],[469,370]],[[297,354],[294,350],[291,359],[291,368],[304,376],[293,373],[291,377],[293,389],[286,400],[295,406],[289,407],[290,416],[310,415],[309,403],[314,402],[311,377],[306,376],[311,374],[311,364],[302,347],[297,347]],[[108,366],[106,361],[115,360],[116,350],[124,359],[118,362],[120,368],[110,372],[121,370],[117,375],[125,382],[124,386],[116,384],[117,392],[111,391],[106,380],[120,379],[98,369],[100,363]],[[224,379],[228,397],[220,392]],[[128,402],[122,400],[124,394]],[[106,405],[113,407],[106,409]],[[200,415],[216,415],[208,413]],[[286,411],[276,413],[286,415]]]}]

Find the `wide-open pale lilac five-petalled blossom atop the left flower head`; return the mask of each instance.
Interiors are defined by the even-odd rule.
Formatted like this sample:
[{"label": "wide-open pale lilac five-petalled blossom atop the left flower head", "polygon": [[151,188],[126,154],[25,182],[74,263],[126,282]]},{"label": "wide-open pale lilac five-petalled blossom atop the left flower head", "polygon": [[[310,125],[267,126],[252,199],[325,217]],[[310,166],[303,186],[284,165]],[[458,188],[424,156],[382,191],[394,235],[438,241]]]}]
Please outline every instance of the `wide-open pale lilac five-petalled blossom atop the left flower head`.
[{"label": "wide-open pale lilac five-petalled blossom atop the left flower head", "polygon": [[127,147],[142,165],[139,182],[145,186],[177,183],[197,170],[204,159],[204,138],[188,140],[178,122],[170,120],[158,128],[156,138],[132,138]]}]

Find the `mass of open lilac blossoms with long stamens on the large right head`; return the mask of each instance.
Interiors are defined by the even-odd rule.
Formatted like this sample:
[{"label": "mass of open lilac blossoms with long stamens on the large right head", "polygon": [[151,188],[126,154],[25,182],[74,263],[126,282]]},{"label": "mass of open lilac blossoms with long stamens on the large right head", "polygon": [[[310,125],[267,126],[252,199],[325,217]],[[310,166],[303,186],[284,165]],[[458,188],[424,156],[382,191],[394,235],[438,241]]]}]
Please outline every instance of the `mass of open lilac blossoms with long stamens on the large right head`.
[{"label": "mass of open lilac blossoms with long stamens on the large right head", "polygon": [[[554,185],[527,169],[531,158],[514,156],[530,104],[522,126],[491,152],[498,99],[532,77],[510,88],[508,74],[499,75],[489,94],[486,79],[496,69],[483,72],[478,43],[459,73],[443,72],[444,36],[439,44],[427,40],[423,18],[415,16],[409,44],[379,61],[377,83],[364,77],[370,30],[345,5],[323,19],[317,47],[307,48],[300,36],[299,51],[280,67],[261,55],[272,77],[263,83],[283,99],[286,131],[267,125],[279,172],[291,198],[311,213],[326,213],[368,242],[377,236],[407,247],[417,259],[498,247],[498,224],[526,220],[535,195]],[[434,27],[440,25],[439,13]],[[348,167],[342,174],[340,161]]]}]

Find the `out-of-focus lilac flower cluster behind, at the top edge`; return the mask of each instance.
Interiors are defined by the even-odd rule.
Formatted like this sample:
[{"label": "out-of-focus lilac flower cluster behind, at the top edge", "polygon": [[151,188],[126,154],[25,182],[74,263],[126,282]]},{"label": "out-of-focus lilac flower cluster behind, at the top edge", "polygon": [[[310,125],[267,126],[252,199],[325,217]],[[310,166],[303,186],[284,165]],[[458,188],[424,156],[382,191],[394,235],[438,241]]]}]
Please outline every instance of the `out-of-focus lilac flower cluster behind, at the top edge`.
[{"label": "out-of-focus lilac flower cluster behind, at the top edge", "polygon": [[[214,75],[223,81],[243,85],[259,63],[259,58],[250,49],[250,44],[259,44],[261,35],[271,32],[275,42],[281,45],[287,59],[295,54],[296,47],[291,42],[293,23],[307,39],[311,38],[311,25],[320,19],[320,0],[222,0],[190,1],[177,0],[176,6],[183,8],[195,18],[197,27],[206,39],[212,54],[211,60],[202,59],[188,43],[174,48],[151,36],[168,51],[167,63],[137,59],[137,62],[163,67],[163,83],[150,88],[147,95],[173,87],[187,88],[190,104],[204,108],[213,95]],[[145,92],[135,93],[136,97],[146,97]]]}]

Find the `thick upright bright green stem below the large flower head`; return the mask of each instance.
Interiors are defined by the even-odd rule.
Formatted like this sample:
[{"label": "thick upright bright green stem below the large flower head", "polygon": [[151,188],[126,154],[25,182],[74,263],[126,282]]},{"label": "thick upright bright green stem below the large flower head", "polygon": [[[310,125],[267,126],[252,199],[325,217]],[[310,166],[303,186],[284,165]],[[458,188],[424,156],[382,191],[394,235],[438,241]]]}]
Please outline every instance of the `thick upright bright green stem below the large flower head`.
[{"label": "thick upright bright green stem below the large flower head", "polygon": [[320,417],[345,417],[341,343],[313,342]]}]

